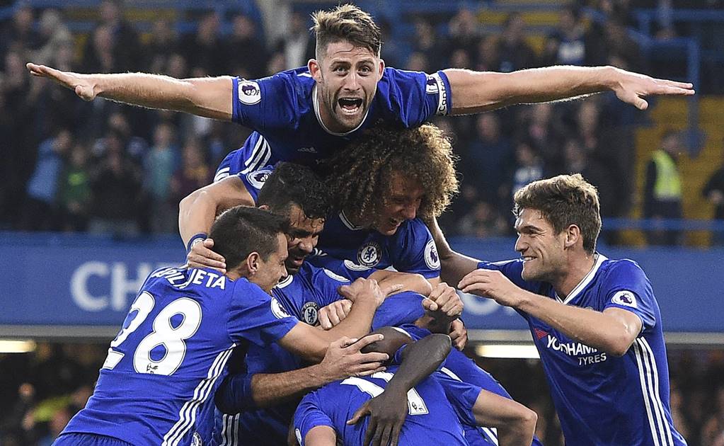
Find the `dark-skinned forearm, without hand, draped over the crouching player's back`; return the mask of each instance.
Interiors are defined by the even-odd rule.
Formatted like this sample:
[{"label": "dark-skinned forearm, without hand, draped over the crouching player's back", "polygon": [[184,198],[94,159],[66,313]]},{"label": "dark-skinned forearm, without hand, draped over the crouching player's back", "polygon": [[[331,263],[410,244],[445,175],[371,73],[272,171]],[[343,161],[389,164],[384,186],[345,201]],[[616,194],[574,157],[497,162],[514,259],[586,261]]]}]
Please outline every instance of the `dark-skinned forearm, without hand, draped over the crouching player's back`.
[{"label": "dark-skinned forearm, without hand, draped over the crouching player's back", "polygon": [[437,370],[450,353],[450,347],[450,337],[447,334],[429,334],[408,345],[403,351],[400,368],[390,380],[390,384],[387,384],[385,392],[395,390],[407,393],[418,382]]}]

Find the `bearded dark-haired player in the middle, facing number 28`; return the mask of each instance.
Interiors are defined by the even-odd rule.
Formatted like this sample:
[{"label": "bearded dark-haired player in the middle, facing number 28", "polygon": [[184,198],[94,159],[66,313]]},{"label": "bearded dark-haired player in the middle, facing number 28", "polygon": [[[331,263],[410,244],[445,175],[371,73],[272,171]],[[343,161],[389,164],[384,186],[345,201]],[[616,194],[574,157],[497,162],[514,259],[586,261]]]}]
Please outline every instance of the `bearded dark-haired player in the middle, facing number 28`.
[{"label": "bearded dark-haired player in the middle, facing number 28", "polygon": [[[337,288],[350,282],[305,261],[306,255],[316,245],[316,236],[324,227],[324,216],[330,206],[327,187],[308,167],[280,163],[265,180],[257,201],[261,208],[290,220],[287,257],[290,276],[272,288],[275,303],[287,314],[314,325],[324,306],[342,298]],[[390,286],[405,282],[404,279],[400,281],[395,278],[400,273],[395,274],[392,280],[380,282],[381,287],[388,288],[384,285],[386,282]],[[413,277],[412,274],[405,274],[407,276]],[[413,279],[426,285],[426,295],[430,293],[430,285],[423,277],[414,276]],[[455,302],[447,305],[452,298]],[[436,303],[434,308],[432,302]],[[424,311],[431,308],[432,314],[446,311],[447,316],[455,319],[462,311],[462,303],[454,293],[452,296],[448,293],[442,298],[439,294],[432,295],[430,299],[416,293],[397,293],[385,300],[372,324],[374,327],[382,327],[412,323],[421,319]],[[428,316],[421,320],[421,324],[431,327],[434,325],[431,319],[434,318]],[[447,332],[449,322],[445,327],[441,324],[440,329]],[[357,374],[357,370],[351,367],[329,367],[324,364],[297,370],[304,365],[303,361],[278,345],[264,348],[251,345],[245,363],[246,373],[234,376],[232,382],[224,382],[217,392],[216,403],[219,408],[232,414],[217,421],[216,437],[221,444],[237,444],[237,441],[240,444],[284,442],[293,413],[293,406],[288,404],[290,400],[323,384]],[[287,371],[287,374],[279,373]],[[229,392],[229,395],[224,396],[224,392]]]}]

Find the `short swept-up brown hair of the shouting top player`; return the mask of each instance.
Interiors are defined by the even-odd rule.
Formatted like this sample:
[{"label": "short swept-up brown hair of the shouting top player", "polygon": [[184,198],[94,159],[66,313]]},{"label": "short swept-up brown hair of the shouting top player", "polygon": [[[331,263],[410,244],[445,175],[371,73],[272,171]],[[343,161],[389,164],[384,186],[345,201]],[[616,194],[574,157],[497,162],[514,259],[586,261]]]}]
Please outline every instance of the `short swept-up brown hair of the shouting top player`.
[{"label": "short swept-up brown hair of the shouting top player", "polygon": [[329,43],[347,41],[355,47],[369,49],[379,57],[382,49],[382,31],[372,16],[353,4],[340,4],[331,11],[312,14],[311,28],[316,38],[316,58],[321,59]]}]

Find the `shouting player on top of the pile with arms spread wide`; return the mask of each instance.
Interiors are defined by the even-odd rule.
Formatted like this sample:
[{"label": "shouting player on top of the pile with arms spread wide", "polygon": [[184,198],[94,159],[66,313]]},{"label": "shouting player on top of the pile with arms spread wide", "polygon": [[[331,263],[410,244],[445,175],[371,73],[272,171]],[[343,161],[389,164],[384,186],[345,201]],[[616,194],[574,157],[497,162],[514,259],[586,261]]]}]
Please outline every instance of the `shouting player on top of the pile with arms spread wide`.
[{"label": "shouting player on top of the pile with arms spread wide", "polygon": [[216,174],[253,172],[277,161],[314,164],[360,130],[382,121],[416,127],[435,114],[471,114],[513,104],[614,91],[646,109],[644,96],[691,95],[690,83],[653,79],[614,67],[547,67],[511,73],[448,69],[428,75],[386,68],[381,32],[353,5],[313,15],[316,58],[306,67],[258,80],[174,79],[146,73],[63,72],[28,63],[86,101],[97,96],[237,122],[254,132]]}]

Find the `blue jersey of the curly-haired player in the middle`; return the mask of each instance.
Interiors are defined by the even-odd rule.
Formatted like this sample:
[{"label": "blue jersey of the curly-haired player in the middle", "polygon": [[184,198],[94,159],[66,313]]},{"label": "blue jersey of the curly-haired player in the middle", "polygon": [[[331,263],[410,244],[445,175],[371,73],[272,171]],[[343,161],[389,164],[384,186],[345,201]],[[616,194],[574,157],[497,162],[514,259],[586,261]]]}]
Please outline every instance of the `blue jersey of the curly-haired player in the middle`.
[{"label": "blue jersey of the curly-haired player in the middle", "polygon": [[308,260],[350,279],[369,277],[376,269],[390,266],[427,279],[440,275],[435,242],[424,222],[417,218],[402,222],[393,235],[382,235],[355,226],[340,212],[324,223],[315,255]]}]

